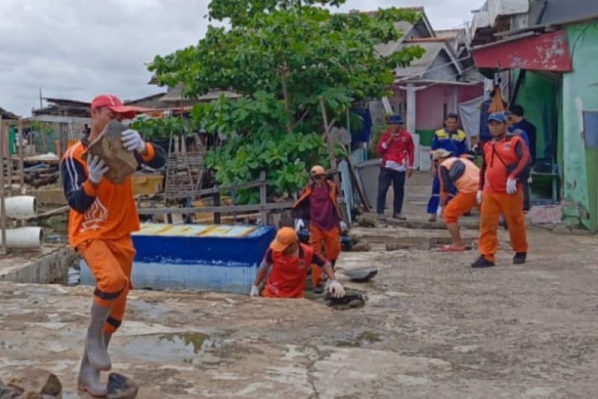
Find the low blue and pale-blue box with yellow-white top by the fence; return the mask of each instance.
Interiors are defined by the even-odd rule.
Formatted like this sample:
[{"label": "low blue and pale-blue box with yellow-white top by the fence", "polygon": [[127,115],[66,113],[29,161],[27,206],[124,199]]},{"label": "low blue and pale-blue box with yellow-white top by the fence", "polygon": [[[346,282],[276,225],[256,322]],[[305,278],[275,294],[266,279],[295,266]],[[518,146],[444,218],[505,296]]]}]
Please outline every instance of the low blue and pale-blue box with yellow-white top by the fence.
[{"label": "low blue and pale-blue box with yellow-white top by the fence", "polygon": [[[249,293],[274,227],[143,224],[133,234],[135,288]],[[83,260],[81,282],[95,281]]]}]

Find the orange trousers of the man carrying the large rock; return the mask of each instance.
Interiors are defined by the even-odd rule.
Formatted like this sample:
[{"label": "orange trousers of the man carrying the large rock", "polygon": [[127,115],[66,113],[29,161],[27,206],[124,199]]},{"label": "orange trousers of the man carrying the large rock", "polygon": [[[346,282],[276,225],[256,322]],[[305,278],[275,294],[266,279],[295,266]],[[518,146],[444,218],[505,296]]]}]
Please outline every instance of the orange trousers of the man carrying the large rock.
[{"label": "orange trousers of the man carrying the large rock", "polygon": [[132,287],[131,272],[135,248],[130,236],[118,240],[87,240],[77,247],[96,278],[94,301],[112,310],[103,331],[114,334],[123,322],[127,295]]}]

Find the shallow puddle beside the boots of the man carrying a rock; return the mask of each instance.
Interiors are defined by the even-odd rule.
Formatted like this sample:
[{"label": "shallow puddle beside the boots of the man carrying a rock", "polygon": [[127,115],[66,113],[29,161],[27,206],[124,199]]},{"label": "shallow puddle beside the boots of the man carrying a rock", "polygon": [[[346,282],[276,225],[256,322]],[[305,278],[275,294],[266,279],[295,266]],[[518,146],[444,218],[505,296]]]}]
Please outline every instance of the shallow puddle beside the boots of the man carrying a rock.
[{"label": "shallow puddle beside the boots of the man carrying a rock", "polygon": [[208,334],[172,333],[131,337],[118,349],[119,357],[148,361],[181,361],[194,363],[206,348],[216,342]]}]

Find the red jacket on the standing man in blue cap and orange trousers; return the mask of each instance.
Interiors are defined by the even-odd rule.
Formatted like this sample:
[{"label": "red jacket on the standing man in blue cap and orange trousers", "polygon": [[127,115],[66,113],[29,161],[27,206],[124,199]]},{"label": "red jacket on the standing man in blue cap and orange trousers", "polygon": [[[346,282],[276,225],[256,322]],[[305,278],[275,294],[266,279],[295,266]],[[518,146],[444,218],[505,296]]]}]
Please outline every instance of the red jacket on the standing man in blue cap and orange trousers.
[{"label": "red jacket on the standing man in blue cap and orange trousers", "polygon": [[506,135],[499,141],[486,142],[480,169],[480,190],[505,193],[507,178],[517,179],[529,160],[529,150],[520,136]]}]

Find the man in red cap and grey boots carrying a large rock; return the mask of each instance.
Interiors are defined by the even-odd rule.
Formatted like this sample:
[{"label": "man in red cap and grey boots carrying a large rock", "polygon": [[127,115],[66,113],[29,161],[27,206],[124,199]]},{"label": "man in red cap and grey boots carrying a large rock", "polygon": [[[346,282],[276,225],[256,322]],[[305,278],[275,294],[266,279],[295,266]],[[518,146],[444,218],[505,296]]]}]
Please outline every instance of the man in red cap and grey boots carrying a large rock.
[{"label": "man in red cap and grey boots carrying a large rock", "polygon": [[[131,233],[139,230],[139,217],[133,199],[131,177],[123,184],[104,178],[108,166],[99,157],[89,155],[87,146],[112,120],[132,119],[135,108],[123,106],[116,96],[100,95],[91,102],[89,137],[72,145],[60,162],[69,213],[69,243],[96,279],[91,322],[78,377],[78,388],[94,397],[106,395],[100,384],[100,370],[110,370],[108,343],[123,321],[127,294],[132,289],[131,272],[135,248]],[[151,167],[164,165],[164,151],[145,143],[135,130],[122,133],[124,147],[135,153],[139,163]]]}]

